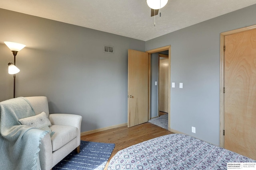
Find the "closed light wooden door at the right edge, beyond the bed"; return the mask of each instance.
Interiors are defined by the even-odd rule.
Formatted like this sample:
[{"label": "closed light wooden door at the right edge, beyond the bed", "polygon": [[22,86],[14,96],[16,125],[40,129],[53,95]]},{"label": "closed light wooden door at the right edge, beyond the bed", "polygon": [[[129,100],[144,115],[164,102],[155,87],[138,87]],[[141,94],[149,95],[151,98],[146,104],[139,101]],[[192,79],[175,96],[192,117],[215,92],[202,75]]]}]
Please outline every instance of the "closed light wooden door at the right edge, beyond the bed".
[{"label": "closed light wooden door at the right edge, beyond the bed", "polygon": [[225,36],[224,148],[256,160],[256,30]]}]

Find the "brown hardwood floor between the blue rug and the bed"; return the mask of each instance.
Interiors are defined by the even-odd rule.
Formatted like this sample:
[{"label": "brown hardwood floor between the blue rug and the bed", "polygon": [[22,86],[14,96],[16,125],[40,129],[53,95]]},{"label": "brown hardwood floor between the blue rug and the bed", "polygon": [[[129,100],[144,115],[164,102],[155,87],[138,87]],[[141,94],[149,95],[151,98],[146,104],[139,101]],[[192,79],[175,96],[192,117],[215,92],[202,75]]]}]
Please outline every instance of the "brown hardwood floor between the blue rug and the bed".
[{"label": "brown hardwood floor between the blue rug and the bed", "polygon": [[[81,140],[102,143],[114,143],[116,146],[109,158],[110,160],[119,150],[122,150],[124,148],[130,147],[143,141],[147,141],[149,139],[153,139],[168,134],[172,134],[172,132],[147,122],[130,128],[128,128],[127,126],[123,126],[114,129],[109,129],[106,131],[92,133],[89,135],[84,135],[81,136]],[[106,164],[106,167],[107,166],[108,163]]]}]

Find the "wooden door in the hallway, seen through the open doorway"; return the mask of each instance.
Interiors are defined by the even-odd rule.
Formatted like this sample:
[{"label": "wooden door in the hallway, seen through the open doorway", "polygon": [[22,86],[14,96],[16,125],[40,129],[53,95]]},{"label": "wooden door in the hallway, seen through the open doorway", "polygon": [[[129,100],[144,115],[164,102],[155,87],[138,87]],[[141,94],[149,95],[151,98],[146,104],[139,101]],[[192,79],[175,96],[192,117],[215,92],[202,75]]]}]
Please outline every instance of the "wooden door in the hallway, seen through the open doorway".
[{"label": "wooden door in the hallway, seen through the open doorway", "polygon": [[159,111],[168,113],[169,59],[159,59]]}]

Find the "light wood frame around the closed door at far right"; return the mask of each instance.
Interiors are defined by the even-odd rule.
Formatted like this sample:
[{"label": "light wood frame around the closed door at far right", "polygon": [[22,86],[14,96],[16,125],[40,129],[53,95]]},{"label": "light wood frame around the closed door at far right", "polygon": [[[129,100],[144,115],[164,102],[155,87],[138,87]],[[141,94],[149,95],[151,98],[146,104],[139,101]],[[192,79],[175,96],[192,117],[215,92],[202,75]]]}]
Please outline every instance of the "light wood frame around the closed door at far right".
[{"label": "light wood frame around the closed door at far right", "polygon": [[256,29],[256,25],[220,33],[220,147],[224,148],[224,84],[225,84],[225,36]]}]

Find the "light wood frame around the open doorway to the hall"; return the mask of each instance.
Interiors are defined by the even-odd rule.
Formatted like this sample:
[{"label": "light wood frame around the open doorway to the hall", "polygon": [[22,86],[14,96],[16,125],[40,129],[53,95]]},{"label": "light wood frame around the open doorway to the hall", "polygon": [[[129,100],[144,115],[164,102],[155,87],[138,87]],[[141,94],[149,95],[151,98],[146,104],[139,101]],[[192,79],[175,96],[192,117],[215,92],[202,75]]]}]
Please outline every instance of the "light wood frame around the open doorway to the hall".
[{"label": "light wood frame around the open doorway to the hall", "polygon": [[[168,131],[171,130],[171,45],[152,49],[146,51],[148,53],[148,120],[150,120],[150,87],[151,87],[151,80],[150,80],[150,71],[151,71],[151,54],[152,53],[158,53],[162,51],[168,50],[168,56],[169,56],[169,71],[168,71]],[[159,111],[158,111],[159,112]]]}]

